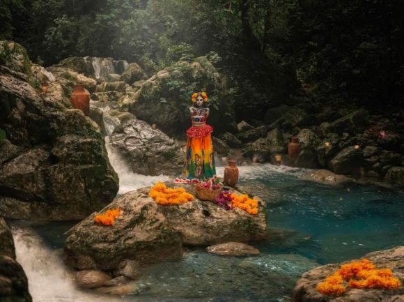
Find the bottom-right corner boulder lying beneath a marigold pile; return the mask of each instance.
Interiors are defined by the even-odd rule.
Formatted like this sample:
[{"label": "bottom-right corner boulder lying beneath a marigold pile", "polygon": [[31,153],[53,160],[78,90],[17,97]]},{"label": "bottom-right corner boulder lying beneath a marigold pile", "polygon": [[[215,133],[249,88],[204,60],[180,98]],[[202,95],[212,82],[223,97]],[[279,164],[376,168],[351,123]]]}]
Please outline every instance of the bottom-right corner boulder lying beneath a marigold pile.
[{"label": "bottom-right corner boulder lying beneath a marigold pile", "polygon": [[[391,269],[394,275],[404,281],[404,247],[391,248],[370,252],[364,256],[370,259],[378,269]],[[334,274],[341,264],[327,264],[312,269],[302,275],[294,290],[295,302],[401,302],[404,296],[404,287],[398,290],[383,289],[352,289],[342,296],[325,296],[317,291],[316,286],[323,282],[328,275]]]}]

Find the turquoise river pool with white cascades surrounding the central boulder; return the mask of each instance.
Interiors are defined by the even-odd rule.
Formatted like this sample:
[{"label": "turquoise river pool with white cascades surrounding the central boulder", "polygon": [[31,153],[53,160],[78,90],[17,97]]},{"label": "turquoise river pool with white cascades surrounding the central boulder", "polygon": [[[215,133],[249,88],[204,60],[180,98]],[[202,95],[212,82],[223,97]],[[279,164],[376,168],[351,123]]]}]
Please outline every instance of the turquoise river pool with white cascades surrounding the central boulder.
[{"label": "turquoise river pool with white cascades surrounding the central boulder", "polygon": [[[109,150],[120,193],[164,176],[132,174]],[[72,285],[61,262],[63,233],[74,222],[13,226],[17,259],[34,302],[42,301],[290,301],[296,280],[315,266],[361,257],[404,244],[404,192],[369,186],[332,188],[302,180],[306,171],[257,165],[240,167],[241,183],[267,201],[270,236],[258,257],[219,257],[188,248],[180,262],[151,266],[135,296],[98,296]],[[223,174],[223,168],[218,168]]]}]

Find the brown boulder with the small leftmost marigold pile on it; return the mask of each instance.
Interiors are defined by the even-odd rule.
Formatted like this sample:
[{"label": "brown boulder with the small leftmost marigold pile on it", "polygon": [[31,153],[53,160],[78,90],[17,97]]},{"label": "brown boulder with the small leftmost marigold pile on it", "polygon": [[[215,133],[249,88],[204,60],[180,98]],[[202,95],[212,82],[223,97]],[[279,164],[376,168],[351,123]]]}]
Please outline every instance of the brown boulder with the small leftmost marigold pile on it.
[{"label": "brown boulder with the small leftmost marigold pile on it", "polygon": [[147,195],[128,192],[108,208],[123,211],[113,227],[96,225],[91,215],[70,230],[65,243],[68,265],[114,271],[127,260],[150,264],[182,257],[179,232],[169,227],[160,207]]}]

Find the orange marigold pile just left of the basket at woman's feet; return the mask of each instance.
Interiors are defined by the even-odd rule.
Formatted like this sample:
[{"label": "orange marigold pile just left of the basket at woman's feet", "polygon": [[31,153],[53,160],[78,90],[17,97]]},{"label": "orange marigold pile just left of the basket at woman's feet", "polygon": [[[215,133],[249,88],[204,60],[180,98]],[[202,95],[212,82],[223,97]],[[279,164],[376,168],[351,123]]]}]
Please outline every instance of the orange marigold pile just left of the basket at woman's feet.
[{"label": "orange marigold pile just left of the basket at woman's feet", "polygon": [[184,188],[169,189],[162,182],[155,184],[150,190],[149,196],[155,199],[157,204],[185,204],[185,202],[194,200],[194,196]]}]

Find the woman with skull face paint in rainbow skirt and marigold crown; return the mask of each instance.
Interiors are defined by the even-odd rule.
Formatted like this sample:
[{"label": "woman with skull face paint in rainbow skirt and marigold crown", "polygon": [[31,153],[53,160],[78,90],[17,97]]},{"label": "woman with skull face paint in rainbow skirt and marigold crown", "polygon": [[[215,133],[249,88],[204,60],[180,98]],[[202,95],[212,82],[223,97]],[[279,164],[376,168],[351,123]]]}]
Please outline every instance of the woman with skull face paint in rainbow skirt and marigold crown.
[{"label": "woman with skull face paint in rainbow skirt and marigold crown", "polygon": [[189,107],[192,127],[187,130],[184,169],[176,179],[178,183],[199,183],[216,177],[215,157],[213,156],[212,126],[206,124],[209,116],[208,96],[205,92],[192,94],[194,106]]}]

